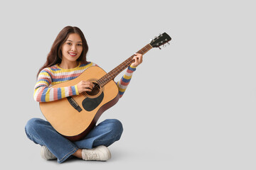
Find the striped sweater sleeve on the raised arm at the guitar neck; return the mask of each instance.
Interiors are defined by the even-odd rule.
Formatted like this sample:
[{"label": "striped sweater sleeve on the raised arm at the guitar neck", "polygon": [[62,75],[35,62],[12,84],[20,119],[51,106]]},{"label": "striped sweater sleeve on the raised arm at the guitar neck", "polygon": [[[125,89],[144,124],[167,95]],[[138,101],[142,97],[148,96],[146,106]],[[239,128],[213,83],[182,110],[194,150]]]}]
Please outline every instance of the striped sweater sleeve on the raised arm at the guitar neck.
[{"label": "striped sweater sleeve on the raised arm at the guitar neck", "polygon": [[124,76],[120,81],[117,82],[117,87],[119,89],[119,98],[124,95],[124,91],[127,89],[129,82],[132,79],[132,74],[136,70],[136,67],[129,66],[127,68],[127,72],[125,72]]}]

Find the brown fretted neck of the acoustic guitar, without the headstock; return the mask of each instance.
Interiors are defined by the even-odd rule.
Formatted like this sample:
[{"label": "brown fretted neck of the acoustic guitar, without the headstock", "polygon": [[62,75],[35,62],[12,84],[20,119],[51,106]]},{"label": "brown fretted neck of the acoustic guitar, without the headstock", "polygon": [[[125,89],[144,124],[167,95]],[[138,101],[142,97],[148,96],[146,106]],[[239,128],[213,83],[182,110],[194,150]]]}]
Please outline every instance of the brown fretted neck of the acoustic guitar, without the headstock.
[{"label": "brown fretted neck of the acoustic guitar, without the headstock", "polygon": [[[145,47],[143,47],[141,50],[139,50],[137,53],[144,55],[146,52],[151,50],[151,48],[152,48],[152,46],[150,44],[148,44]],[[135,55],[132,55],[127,60],[125,60],[124,62],[119,64],[119,66],[115,67],[109,73],[105,74],[104,77],[97,80],[97,84],[99,84],[100,86],[105,86],[105,84],[107,84],[110,80],[114,79],[114,77],[117,77],[117,75],[120,72],[122,72],[124,69],[129,67],[129,65],[131,65],[132,62],[134,62],[134,60],[133,60],[134,56]]]}]

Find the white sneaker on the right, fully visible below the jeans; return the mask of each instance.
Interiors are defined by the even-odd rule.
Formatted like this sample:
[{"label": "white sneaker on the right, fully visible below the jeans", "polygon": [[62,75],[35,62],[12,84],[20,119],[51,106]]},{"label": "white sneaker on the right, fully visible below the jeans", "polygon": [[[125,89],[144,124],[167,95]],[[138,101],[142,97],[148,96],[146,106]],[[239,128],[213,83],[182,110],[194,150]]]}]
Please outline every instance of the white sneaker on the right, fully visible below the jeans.
[{"label": "white sneaker on the right, fully visible below the jeans", "polygon": [[82,159],[86,161],[107,161],[110,158],[110,150],[103,145],[93,149],[82,149]]}]

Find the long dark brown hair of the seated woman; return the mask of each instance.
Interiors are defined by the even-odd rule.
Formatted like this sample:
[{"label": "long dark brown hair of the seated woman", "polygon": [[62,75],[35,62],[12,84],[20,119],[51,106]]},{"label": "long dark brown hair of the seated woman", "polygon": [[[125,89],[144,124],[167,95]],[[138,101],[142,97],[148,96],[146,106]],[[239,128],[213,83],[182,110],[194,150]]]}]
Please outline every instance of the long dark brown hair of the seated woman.
[{"label": "long dark brown hair of the seated woman", "polygon": [[70,33],[77,33],[78,35],[80,35],[80,38],[82,39],[82,53],[77,61],[85,64],[87,63],[86,55],[88,52],[88,45],[87,41],[85,40],[85,35],[83,35],[82,30],[80,30],[80,28],[78,27],[66,26],[65,28],[63,28],[63,30],[60,30],[60,33],[58,33],[47,56],[46,63],[43,64],[43,67],[39,69],[38,74],[42,71],[42,69],[46,67],[51,67],[55,64],[60,64],[62,60],[61,47],[63,43],[68,39],[68,35],[70,35]]}]

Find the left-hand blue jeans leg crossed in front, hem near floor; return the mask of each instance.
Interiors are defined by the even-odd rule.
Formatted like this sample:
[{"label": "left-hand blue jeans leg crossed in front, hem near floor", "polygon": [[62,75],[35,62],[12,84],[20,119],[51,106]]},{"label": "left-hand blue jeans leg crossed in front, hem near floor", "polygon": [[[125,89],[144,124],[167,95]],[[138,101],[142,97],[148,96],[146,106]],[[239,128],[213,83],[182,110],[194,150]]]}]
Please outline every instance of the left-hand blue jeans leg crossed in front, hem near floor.
[{"label": "left-hand blue jeans leg crossed in front, hem near floor", "polygon": [[25,130],[30,140],[41,146],[46,146],[57,157],[59,163],[64,162],[78,150],[73,142],[56,132],[46,120],[39,118],[28,120]]}]

